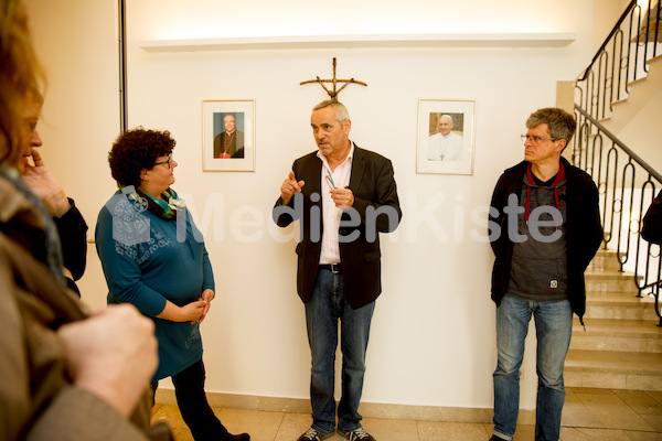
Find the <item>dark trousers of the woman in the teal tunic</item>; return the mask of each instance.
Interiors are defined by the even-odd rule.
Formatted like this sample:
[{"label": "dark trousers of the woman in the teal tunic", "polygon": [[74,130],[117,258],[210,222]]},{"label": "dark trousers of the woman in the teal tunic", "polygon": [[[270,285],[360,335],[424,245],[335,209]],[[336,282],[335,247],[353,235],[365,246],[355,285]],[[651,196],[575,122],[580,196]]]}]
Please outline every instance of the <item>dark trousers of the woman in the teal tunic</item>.
[{"label": "dark trousers of the woman in the teal tunic", "polygon": [[[218,441],[227,438],[227,429],[223,427],[210,407],[204,394],[204,364],[202,358],[173,375],[174,395],[182,418],[195,441]],[[159,381],[152,383],[157,392]]]}]

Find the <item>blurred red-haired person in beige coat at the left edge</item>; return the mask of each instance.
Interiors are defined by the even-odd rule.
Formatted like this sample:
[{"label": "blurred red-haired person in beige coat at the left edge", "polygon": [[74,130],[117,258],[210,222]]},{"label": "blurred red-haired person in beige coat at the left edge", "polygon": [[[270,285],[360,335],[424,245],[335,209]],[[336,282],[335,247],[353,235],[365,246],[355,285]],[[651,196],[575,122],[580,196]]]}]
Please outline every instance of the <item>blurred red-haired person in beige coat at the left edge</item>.
[{"label": "blurred red-haired person in beige coat at the left edge", "polygon": [[19,0],[0,0],[0,439],[169,440],[149,428],[153,325],[128,305],[87,314],[20,176],[44,78]]}]

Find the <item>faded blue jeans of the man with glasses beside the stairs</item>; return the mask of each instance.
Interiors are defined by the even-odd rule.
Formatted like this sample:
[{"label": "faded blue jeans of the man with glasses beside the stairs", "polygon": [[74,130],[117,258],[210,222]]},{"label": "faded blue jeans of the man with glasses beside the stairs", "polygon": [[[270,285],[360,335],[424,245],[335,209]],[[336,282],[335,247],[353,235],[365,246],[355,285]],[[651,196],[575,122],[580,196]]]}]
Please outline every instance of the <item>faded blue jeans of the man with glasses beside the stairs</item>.
[{"label": "faded blue jeans of the man with glasses beside the stairs", "polygon": [[556,441],[565,400],[563,366],[573,333],[573,311],[568,300],[534,302],[506,294],[496,308],[494,434],[510,440],[515,433],[520,411],[520,367],[532,314],[538,376],[535,439]]}]

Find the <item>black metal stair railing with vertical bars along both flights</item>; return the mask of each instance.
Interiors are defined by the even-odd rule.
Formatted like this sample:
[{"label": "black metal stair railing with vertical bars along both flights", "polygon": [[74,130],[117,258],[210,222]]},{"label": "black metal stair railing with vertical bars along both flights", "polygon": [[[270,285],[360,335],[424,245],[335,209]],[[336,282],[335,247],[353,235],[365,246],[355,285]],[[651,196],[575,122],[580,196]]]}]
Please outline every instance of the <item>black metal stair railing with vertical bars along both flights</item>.
[{"label": "black metal stair railing with vertical bars along both flights", "polygon": [[661,0],[632,0],[589,66],[575,82],[578,133],[573,163],[586,170],[600,193],[605,248],[615,249],[620,270],[631,270],[638,295],[654,298],[662,326],[662,250],[641,238],[640,225],[662,175],[607,130],[600,120],[626,99],[629,85],[648,74],[648,62],[662,54]]}]

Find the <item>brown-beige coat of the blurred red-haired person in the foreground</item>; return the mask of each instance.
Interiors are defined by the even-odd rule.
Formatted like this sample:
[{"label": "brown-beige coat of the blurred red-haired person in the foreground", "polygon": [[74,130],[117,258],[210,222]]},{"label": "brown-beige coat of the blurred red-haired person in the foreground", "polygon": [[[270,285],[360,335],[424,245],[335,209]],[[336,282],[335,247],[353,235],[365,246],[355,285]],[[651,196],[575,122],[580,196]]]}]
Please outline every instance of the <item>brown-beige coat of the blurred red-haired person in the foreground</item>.
[{"label": "brown-beige coat of the blurred red-haired person in the foreground", "polygon": [[[25,249],[30,237],[39,237],[39,216],[4,179],[0,179],[0,224],[4,233],[11,232],[11,238],[0,233],[0,439],[158,438],[145,432],[148,395],[131,422],[73,386],[55,330],[87,314],[83,303],[32,257],[32,247]],[[156,432],[169,439],[162,429]]]}]

